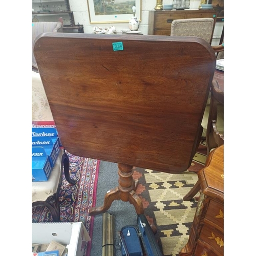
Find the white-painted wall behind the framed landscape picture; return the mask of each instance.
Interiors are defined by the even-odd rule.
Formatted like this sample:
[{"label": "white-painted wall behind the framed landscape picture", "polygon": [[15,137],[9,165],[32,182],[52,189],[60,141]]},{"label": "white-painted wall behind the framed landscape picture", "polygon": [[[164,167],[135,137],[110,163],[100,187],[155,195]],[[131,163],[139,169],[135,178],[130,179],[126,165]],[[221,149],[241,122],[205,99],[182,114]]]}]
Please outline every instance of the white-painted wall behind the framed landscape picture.
[{"label": "white-painted wall behind the framed landscape picture", "polygon": [[[75,23],[82,24],[84,26],[84,33],[93,33],[94,26],[99,27],[109,27],[113,25],[116,27],[117,31],[121,31],[123,29],[129,29],[128,23],[104,23],[104,24],[90,24],[89,12],[88,12],[88,4],[87,0],[69,0],[71,11],[74,12]],[[163,0],[163,4],[172,4],[172,0]],[[190,0],[190,9],[198,9],[201,0]],[[141,22],[139,30],[147,35],[147,27],[148,27],[148,11],[154,10],[156,6],[156,0],[141,0]],[[131,15],[132,16],[132,15]],[[212,45],[218,45],[221,32],[223,28],[223,22],[218,22],[214,31],[214,38],[212,39]]]}]

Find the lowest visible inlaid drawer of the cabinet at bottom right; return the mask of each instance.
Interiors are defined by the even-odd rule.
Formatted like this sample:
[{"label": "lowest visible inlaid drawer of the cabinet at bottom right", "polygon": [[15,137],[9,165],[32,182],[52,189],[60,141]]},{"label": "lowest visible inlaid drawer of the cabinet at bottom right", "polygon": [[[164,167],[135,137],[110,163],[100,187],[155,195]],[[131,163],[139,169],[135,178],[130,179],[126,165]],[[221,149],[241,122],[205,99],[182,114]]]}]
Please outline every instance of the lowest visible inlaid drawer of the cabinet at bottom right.
[{"label": "lowest visible inlaid drawer of the cabinet at bottom right", "polygon": [[211,250],[214,251],[216,254],[224,255],[223,237],[223,232],[205,224],[201,229],[199,241],[202,243],[207,243],[210,246]]}]

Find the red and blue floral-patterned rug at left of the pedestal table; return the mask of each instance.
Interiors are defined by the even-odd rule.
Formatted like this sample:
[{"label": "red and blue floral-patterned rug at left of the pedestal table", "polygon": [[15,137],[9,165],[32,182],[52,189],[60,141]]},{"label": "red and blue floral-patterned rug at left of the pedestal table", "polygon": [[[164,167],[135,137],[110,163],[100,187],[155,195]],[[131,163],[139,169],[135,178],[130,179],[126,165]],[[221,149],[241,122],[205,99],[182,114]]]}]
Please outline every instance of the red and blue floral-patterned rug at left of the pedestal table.
[{"label": "red and blue floral-patterned rug at left of the pedestal table", "polygon": [[[99,172],[99,160],[82,158],[68,153],[70,161],[70,175],[76,180],[76,185],[71,185],[65,179],[60,188],[60,221],[81,221],[92,238],[94,216],[89,216],[91,207],[95,206],[96,190]],[[81,171],[82,170],[82,171]],[[47,207],[32,208],[32,222],[53,222]],[[91,241],[84,247],[84,255],[90,255]]]}]

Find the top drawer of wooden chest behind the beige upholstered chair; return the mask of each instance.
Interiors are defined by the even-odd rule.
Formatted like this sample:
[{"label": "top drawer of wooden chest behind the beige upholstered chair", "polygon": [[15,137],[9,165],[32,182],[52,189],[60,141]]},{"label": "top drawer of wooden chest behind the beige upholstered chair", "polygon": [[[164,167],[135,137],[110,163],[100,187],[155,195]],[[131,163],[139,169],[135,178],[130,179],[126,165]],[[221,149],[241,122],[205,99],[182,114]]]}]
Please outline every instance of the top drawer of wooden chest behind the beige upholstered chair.
[{"label": "top drawer of wooden chest behind the beige upholstered chair", "polygon": [[185,18],[185,13],[163,13],[155,16],[155,29],[170,29],[174,19]]}]

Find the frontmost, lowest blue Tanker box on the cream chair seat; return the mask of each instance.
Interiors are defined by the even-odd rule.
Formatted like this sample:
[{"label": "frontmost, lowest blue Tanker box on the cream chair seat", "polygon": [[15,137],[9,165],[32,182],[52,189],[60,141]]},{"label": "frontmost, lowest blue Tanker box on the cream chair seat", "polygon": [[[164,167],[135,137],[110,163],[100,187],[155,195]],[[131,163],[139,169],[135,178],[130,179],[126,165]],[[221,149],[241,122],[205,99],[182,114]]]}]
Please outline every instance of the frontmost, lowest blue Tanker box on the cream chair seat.
[{"label": "frontmost, lowest blue Tanker box on the cream chair seat", "polygon": [[32,147],[32,181],[48,181],[52,166],[43,147]]}]

